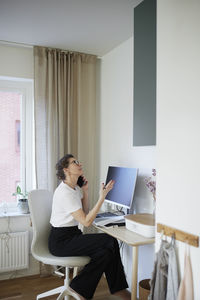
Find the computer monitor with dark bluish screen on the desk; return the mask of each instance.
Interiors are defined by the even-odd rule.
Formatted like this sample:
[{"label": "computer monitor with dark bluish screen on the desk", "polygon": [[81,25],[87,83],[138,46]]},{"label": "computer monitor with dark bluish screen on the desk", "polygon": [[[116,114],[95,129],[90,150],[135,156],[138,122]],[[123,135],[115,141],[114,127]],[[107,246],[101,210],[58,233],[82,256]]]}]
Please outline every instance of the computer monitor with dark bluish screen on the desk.
[{"label": "computer monitor with dark bluish screen on the desk", "polygon": [[124,167],[108,167],[106,184],[115,181],[113,189],[107,194],[105,201],[124,208],[131,208],[135,191],[138,169]]}]

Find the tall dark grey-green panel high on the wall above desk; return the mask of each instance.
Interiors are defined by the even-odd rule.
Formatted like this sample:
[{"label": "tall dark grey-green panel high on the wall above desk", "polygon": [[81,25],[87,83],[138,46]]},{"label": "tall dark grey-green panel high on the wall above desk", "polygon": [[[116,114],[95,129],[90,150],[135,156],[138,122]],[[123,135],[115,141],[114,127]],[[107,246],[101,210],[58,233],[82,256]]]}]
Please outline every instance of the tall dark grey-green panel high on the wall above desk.
[{"label": "tall dark grey-green panel high on the wall above desk", "polygon": [[156,0],[134,9],[133,145],[156,144]]}]

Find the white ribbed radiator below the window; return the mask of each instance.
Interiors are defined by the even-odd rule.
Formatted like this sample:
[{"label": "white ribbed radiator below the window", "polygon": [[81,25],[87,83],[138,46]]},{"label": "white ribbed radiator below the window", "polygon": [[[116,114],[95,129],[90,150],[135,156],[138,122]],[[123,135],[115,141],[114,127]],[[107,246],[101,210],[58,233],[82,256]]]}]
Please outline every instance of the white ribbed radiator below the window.
[{"label": "white ribbed radiator below the window", "polygon": [[0,272],[26,269],[28,265],[28,231],[1,233]]}]

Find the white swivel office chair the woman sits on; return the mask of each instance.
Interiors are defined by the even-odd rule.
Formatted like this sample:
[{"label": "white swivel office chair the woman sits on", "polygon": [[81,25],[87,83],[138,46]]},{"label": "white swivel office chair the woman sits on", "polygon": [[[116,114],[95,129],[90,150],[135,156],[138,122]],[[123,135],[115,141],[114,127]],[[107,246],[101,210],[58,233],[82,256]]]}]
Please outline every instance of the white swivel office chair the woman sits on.
[{"label": "white swivel office chair the woman sits on", "polygon": [[64,285],[37,296],[37,300],[60,293],[57,300],[69,300],[69,296],[80,300],[80,297],[69,290],[69,268],[82,267],[90,258],[86,256],[58,257],[48,250],[50,232],[50,215],[52,208],[52,193],[47,190],[31,191],[28,197],[29,209],[33,225],[33,241],[31,252],[35,259],[44,264],[65,267]]}]

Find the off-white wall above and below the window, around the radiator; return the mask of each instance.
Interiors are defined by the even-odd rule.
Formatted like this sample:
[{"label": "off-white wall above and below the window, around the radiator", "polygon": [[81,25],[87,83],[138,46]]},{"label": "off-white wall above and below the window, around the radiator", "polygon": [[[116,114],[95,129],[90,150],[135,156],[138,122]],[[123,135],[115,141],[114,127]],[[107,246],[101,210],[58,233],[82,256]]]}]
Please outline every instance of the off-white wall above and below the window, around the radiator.
[{"label": "off-white wall above and below the window, around the radiator", "polygon": [[[0,44],[0,76],[18,77],[33,79],[33,49]],[[10,231],[29,231],[29,245],[32,240],[32,228],[30,218],[24,217],[0,217],[0,232]],[[29,247],[30,253],[30,247]],[[10,277],[20,277],[39,273],[39,264],[31,253],[30,266],[28,270],[16,272],[0,273],[0,280]]]}]

